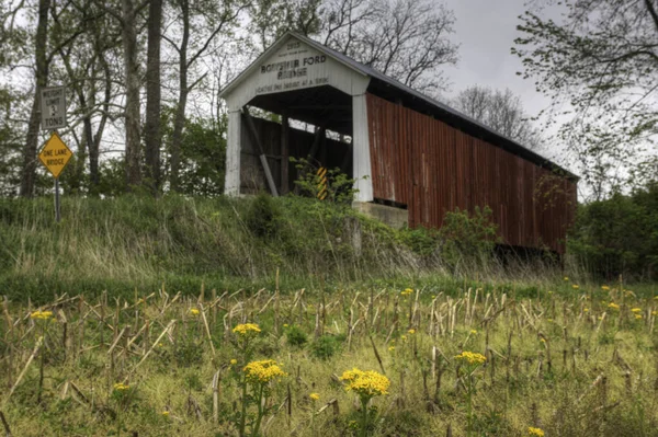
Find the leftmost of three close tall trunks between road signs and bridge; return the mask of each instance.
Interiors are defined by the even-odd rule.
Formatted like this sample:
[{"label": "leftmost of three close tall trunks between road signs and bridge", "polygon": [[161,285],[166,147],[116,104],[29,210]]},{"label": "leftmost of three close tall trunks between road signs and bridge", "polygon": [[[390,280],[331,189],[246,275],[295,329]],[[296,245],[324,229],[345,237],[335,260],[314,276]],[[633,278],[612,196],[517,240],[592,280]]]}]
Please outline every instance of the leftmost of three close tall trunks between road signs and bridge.
[{"label": "leftmost of three close tall trunks between road signs and bridge", "polygon": [[126,185],[133,191],[141,184],[141,141],[139,138],[139,65],[137,24],[133,0],[122,0],[122,41],[126,74]]}]

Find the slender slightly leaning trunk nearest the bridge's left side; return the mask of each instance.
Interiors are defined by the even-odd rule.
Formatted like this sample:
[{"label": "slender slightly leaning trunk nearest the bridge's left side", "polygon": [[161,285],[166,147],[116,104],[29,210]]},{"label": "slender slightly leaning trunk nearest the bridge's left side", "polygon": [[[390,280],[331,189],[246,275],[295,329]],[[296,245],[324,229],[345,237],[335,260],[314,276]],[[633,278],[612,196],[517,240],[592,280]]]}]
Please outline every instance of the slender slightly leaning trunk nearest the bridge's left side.
[{"label": "slender slightly leaning trunk nearest the bridge's left side", "polygon": [[173,134],[171,135],[171,176],[169,183],[171,191],[180,189],[179,173],[181,162],[181,143],[183,141],[183,128],[185,126],[185,106],[188,104],[188,43],[190,41],[190,3],[180,0],[183,18],[183,37],[179,51],[179,101],[173,122]]}]

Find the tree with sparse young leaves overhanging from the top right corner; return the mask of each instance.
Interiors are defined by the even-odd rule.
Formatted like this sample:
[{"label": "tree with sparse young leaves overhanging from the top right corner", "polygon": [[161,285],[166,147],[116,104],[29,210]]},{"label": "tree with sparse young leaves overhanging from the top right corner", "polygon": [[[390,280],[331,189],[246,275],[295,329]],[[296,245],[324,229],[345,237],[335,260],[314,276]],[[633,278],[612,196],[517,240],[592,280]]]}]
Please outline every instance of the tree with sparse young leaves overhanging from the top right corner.
[{"label": "tree with sparse young leaves overhanging from the top right corner", "polygon": [[[653,0],[566,0],[559,21],[545,4],[525,12],[512,53],[554,115],[586,179],[642,185],[658,170],[658,12]],[[591,181],[590,181],[591,182]],[[614,188],[614,186],[612,187]]]}]

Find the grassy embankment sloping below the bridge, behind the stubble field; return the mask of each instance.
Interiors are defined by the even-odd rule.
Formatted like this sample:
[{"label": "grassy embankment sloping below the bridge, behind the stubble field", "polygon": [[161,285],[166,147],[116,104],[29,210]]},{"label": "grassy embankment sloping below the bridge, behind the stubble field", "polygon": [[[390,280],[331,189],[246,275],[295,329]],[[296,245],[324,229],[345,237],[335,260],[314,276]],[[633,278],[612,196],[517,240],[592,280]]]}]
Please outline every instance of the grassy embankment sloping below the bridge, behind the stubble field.
[{"label": "grassy embankment sloping below the bridge, behind the stubble field", "polygon": [[[445,263],[426,230],[394,230],[351,208],[311,199],[125,196],[0,200],[0,295],[35,302],[64,292],[341,287],[465,279],[561,279],[544,265]],[[572,272],[570,276],[577,276]],[[582,279],[582,278],[580,278]]]}]

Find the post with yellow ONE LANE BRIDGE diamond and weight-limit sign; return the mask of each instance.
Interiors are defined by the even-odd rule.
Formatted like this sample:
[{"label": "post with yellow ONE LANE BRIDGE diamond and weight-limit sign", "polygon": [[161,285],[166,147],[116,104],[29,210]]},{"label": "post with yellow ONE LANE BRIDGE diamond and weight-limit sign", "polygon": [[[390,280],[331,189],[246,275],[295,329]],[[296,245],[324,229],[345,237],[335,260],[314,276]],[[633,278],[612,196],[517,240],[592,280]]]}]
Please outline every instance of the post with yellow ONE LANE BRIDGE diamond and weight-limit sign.
[{"label": "post with yellow ONE LANE BRIDGE diamond and weight-limit sign", "polygon": [[55,177],[55,220],[59,222],[59,174],[68,164],[73,153],[57,134],[58,128],[66,127],[66,89],[64,87],[44,88],[41,90],[41,108],[43,130],[50,130],[48,139],[38,153],[38,159]]}]

